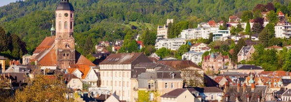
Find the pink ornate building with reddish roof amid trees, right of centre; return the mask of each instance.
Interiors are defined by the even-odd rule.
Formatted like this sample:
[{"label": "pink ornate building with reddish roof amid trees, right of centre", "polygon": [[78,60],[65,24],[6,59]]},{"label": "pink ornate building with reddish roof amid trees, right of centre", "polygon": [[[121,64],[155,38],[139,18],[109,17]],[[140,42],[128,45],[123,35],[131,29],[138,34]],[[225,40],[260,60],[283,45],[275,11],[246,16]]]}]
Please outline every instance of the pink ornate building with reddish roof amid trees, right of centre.
[{"label": "pink ornate building with reddish roof amid trees, right of centre", "polygon": [[219,69],[223,68],[226,62],[229,62],[227,55],[222,55],[221,53],[211,53],[208,56],[204,56],[202,68],[206,71],[210,70],[217,73]]}]

